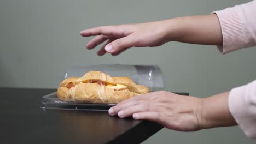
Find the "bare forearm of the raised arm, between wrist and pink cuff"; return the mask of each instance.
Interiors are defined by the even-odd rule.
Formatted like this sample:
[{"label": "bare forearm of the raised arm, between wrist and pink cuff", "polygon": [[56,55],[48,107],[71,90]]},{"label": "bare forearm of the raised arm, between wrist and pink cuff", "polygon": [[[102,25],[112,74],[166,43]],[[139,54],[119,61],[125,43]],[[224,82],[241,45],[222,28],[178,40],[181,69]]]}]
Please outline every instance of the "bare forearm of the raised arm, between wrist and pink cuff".
[{"label": "bare forearm of the raised arm, between wrist and pink cuff", "polygon": [[216,14],[166,20],[168,41],[222,45],[222,31]]}]

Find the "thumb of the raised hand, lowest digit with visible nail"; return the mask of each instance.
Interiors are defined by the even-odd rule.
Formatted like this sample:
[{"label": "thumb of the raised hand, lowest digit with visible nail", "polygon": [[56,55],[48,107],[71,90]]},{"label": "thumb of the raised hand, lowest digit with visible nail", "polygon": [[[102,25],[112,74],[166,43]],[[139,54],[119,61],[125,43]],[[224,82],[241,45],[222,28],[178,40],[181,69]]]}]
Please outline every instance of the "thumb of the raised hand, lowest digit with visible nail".
[{"label": "thumb of the raised hand, lowest digit with visible nail", "polygon": [[106,45],[105,50],[108,53],[116,53],[119,51],[123,51],[124,49],[130,48],[132,46],[135,46],[135,43],[135,40],[133,40],[132,37],[128,36],[112,41],[112,43]]}]

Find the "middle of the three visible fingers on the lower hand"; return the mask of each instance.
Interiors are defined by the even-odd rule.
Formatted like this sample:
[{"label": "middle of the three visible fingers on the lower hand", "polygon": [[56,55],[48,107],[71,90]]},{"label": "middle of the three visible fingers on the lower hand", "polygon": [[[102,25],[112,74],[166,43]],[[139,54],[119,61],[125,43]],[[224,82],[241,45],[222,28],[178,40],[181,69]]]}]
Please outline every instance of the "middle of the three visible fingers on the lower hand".
[{"label": "middle of the three visible fingers on the lower hand", "polygon": [[131,107],[127,107],[126,109],[120,110],[118,112],[118,116],[120,118],[125,118],[125,117],[132,116],[133,113],[151,112],[151,111],[153,111],[152,105],[149,105],[147,103],[142,103],[142,104],[134,105]]}]

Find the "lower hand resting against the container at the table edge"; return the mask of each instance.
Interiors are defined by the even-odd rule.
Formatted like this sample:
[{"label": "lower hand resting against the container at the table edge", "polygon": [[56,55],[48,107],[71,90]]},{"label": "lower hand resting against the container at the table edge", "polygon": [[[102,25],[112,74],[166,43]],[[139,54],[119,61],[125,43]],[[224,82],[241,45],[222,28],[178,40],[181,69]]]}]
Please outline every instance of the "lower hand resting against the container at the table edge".
[{"label": "lower hand resting against the container at the table edge", "polygon": [[178,131],[200,130],[201,99],[159,91],[138,95],[109,109],[121,118],[146,119]]}]

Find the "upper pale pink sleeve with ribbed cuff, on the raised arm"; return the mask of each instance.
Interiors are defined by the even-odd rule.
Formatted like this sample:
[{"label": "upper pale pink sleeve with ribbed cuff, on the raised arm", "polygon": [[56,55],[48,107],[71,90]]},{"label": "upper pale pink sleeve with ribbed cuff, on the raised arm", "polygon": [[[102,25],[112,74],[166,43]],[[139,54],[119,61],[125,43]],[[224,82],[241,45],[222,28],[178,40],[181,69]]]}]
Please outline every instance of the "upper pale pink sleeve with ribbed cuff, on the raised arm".
[{"label": "upper pale pink sleeve with ribbed cuff, on the raised arm", "polygon": [[256,1],[215,11],[222,28],[223,44],[218,46],[228,53],[256,45]]}]

